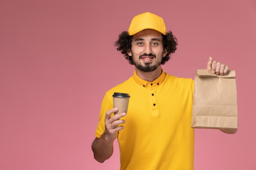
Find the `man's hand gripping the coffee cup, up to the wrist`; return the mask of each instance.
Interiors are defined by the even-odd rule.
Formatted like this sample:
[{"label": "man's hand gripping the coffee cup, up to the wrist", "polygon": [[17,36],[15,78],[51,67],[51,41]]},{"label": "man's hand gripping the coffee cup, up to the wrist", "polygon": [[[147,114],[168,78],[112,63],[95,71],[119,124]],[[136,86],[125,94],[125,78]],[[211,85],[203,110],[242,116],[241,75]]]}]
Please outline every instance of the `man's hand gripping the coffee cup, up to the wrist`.
[{"label": "man's hand gripping the coffee cup, up to the wrist", "polygon": [[124,126],[119,126],[120,124],[124,124],[125,120],[120,120],[121,117],[124,117],[126,113],[119,113],[115,114],[114,116],[110,117],[112,113],[117,112],[118,108],[112,108],[106,112],[105,117],[105,132],[103,136],[105,140],[114,140],[117,136],[117,132],[119,130],[124,129]]}]

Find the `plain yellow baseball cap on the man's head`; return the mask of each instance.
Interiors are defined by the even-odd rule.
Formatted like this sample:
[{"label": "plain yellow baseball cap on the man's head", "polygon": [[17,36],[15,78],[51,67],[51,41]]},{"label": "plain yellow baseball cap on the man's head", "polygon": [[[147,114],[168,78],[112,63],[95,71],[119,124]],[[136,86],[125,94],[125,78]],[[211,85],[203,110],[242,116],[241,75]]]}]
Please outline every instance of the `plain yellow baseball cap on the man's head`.
[{"label": "plain yellow baseball cap on the man's head", "polygon": [[166,26],[164,24],[163,18],[150,12],[136,15],[132,19],[128,33],[129,35],[134,35],[144,29],[154,29],[164,35],[166,34]]}]

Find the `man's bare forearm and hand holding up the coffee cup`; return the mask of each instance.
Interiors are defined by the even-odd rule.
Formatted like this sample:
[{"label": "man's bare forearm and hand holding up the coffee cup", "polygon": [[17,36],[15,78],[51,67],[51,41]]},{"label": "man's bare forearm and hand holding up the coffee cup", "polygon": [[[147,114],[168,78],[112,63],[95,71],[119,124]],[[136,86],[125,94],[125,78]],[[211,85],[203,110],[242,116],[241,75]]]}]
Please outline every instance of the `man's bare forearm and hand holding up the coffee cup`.
[{"label": "man's bare forearm and hand holding up the coffee cup", "polygon": [[116,114],[110,117],[110,115],[117,110],[117,108],[112,108],[106,112],[105,131],[100,138],[95,138],[92,143],[94,159],[100,163],[103,163],[112,156],[113,141],[116,137],[116,133],[124,128],[124,126],[118,125],[125,123],[124,120],[119,120],[126,115],[125,113]]}]

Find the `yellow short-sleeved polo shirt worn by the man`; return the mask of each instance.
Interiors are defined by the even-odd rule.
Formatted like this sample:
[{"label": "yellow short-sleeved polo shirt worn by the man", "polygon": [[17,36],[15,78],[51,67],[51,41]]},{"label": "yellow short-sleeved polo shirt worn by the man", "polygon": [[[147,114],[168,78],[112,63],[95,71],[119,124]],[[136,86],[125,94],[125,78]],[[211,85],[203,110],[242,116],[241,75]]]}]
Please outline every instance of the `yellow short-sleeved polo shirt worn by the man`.
[{"label": "yellow short-sleeved polo shirt worn by the man", "polygon": [[120,170],[193,170],[193,88],[192,79],[177,78],[162,71],[153,82],[134,73],[106,93],[97,138],[104,132],[106,111],[113,107],[112,94],[131,96],[124,129],[118,134]]}]

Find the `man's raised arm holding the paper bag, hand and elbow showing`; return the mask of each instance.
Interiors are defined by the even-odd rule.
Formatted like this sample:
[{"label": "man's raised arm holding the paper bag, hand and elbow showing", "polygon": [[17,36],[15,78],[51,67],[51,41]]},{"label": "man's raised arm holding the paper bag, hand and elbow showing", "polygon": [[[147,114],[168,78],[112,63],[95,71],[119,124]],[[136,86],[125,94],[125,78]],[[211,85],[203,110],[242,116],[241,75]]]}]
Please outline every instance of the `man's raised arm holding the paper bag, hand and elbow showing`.
[{"label": "man's raised arm holding the paper bag, hand and elbow showing", "polygon": [[[229,67],[226,64],[213,61],[212,57],[209,57],[209,61],[207,63],[207,69],[210,69],[213,73],[220,74],[220,75],[224,75],[227,73],[227,71],[229,71]],[[237,132],[237,129],[234,129],[234,130],[220,129],[220,131],[227,134],[234,134]]]}]

